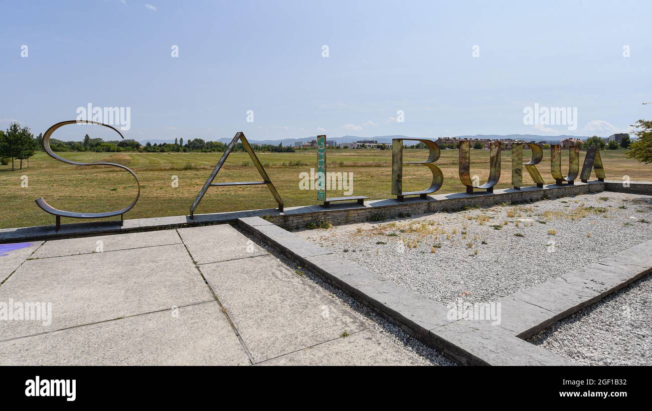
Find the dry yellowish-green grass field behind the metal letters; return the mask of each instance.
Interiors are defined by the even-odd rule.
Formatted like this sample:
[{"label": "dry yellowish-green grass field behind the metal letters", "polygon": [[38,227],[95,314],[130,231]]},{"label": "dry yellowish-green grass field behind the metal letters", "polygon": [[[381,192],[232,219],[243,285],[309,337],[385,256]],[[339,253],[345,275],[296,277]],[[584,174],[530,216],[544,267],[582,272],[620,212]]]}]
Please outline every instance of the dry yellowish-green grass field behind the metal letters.
[{"label": "dry yellowish-green grass field behind the metal letters", "polygon": [[[130,167],[140,179],[141,196],[126,219],[186,215],[195,196],[208,178],[222,153],[59,153],[73,161],[90,163],[109,161]],[[524,157],[527,157],[524,150]],[[632,181],[652,180],[650,165],[626,159],[625,150],[601,152],[607,179]],[[286,207],[318,204],[315,191],[299,190],[299,173],[316,168],[316,150],[297,153],[258,153]],[[404,150],[404,161],[419,161],[427,150]],[[564,152],[568,164],[568,151]],[[372,199],[392,198],[391,150],[330,150],[327,153],[329,172],[353,172],[353,194]],[[580,153],[580,166],[584,153]],[[511,187],[511,152],[502,153],[502,174],[497,188]],[[458,177],[458,150],[442,150],[437,166],[444,174],[444,185],[438,193],[461,192],[464,185]],[[98,212],[125,207],[136,194],[134,179],[116,167],[71,166],[38,152],[26,168],[11,172],[10,166],[0,166],[0,228],[53,224],[54,217],[44,213],[34,200],[42,196],[50,205],[69,211]],[[186,169],[186,165],[192,168]],[[471,150],[471,175],[481,181],[488,176],[489,152]],[[565,166],[567,168],[567,166]],[[550,150],[544,152],[539,171],[547,182],[550,176]],[[27,187],[22,187],[27,176]],[[179,187],[173,188],[172,177],[179,177]],[[258,172],[246,153],[232,153],[216,181],[259,180]],[[430,183],[430,172],[424,166],[404,167],[404,190],[424,189]],[[524,185],[533,185],[524,170]],[[342,192],[328,192],[329,196]],[[196,213],[217,213],[276,207],[265,186],[211,187]],[[80,220],[62,219],[62,223]]]}]

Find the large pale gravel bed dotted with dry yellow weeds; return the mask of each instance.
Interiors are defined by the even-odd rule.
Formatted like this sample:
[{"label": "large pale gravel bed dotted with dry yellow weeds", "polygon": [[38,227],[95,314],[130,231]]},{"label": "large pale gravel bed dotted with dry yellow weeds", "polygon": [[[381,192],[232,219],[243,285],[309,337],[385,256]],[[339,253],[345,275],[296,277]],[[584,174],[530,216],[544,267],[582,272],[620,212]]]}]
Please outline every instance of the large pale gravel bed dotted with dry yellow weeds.
[{"label": "large pale gravel bed dotted with dry yellow weeds", "polygon": [[652,199],[600,192],[299,237],[443,304],[491,302],[652,238]]}]

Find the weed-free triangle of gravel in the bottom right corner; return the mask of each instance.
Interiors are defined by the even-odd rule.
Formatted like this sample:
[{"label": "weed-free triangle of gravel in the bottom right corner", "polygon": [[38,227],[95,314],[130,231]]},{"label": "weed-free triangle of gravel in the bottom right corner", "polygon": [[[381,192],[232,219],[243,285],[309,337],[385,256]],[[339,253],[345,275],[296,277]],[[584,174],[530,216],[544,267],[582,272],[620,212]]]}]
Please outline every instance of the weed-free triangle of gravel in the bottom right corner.
[{"label": "weed-free triangle of gravel in the bottom right corner", "polygon": [[583,365],[652,365],[651,296],[648,275],[528,341]]}]

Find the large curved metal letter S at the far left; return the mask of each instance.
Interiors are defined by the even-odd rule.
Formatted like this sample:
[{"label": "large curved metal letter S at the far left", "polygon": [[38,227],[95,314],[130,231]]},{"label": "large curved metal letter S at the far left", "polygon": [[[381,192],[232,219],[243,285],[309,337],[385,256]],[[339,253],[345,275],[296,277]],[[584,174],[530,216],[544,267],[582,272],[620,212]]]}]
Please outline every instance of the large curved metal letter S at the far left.
[{"label": "large curved metal letter S at the far left", "polygon": [[60,122],[55,124],[54,126],[50,127],[43,135],[43,150],[45,150],[46,153],[50,157],[52,157],[55,160],[63,161],[64,163],[71,164],[74,166],[113,166],[113,167],[118,167],[122,168],[123,170],[128,171],[132,176],[134,176],[134,179],[136,179],[136,184],[138,185],[138,194],[136,194],[136,198],[134,198],[134,201],[131,202],[128,206],[126,206],[123,209],[116,210],[116,211],[107,211],[105,213],[76,213],[74,211],[64,211],[64,210],[59,210],[56,209],[50,204],[48,204],[43,197],[38,198],[36,201],[37,206],[40,207],[43,211],[46,213],[52,214],[53,216],[56,217],[56,226],[55,230],[59,231],[59,228],[61,227],[61,217],[69,217],[71,219],[104,219],[106,217],[115,217],[116,215],[120,216],[120,224],[122,225],[123,223],[123,214],[125,214],[127,211],[132,209],[134,206],[136,206],[136,202],[138,202],[138,197],[140,197],[140,181],[138,181],[138,177],[130,168],[120,165],[120,164],[114,164],[114,163],[78,163],[77,161],[70,161],[67,159],[64,159],[62,157],[59,157],[55,153],[52,152],[52,148],[50,148],[50,137],[52,137],[52,134],[59,128],[63,126],[67,126],[68,124],[96,124],[98,126],[104,126],[104,127],[109,127],[111,130],[115,131],[120,135],[121,138],[123,137],[122,133],[118,131],[115,127],[111,127],[108,124],[104,123],[98,123],[98,122],[92,122],[92,121],[77,121],[77,120],[68,120],[65,122]]}]

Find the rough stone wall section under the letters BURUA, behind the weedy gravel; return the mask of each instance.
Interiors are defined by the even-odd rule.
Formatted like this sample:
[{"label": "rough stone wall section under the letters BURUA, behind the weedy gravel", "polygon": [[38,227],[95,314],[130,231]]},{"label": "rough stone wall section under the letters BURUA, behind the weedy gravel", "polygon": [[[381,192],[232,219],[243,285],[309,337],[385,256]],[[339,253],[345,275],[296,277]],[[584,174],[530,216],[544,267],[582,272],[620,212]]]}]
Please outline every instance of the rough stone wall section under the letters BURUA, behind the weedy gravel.
[{"label": "rough stone wall section under the letters BURUA, behind the weedy gravel", "polygon": [[319,226],[323,222],[340,225],[353,222],[381,221],[395,217],[409,217],[442,211],[460,211],[503,203],[535,202],[548,198],[576,196],[601,191],[604,191],[604,182],[589,181],[589,183],[575,183],[574,185],[559,186],[553,184],[543,188],[502,189],[495,190],[493,193],[466,194],[466,192],[458,192],[455,194],[437,194],[426,198],[406,198],[402,202],[398,200],[376,200],[365,202],[364,206],[339,204],[331,207],[293,207],[286,209],[282,215],[267,216],[265,219],[286,230],[298,230],[306,228],[306,225],[310,224]]}]

